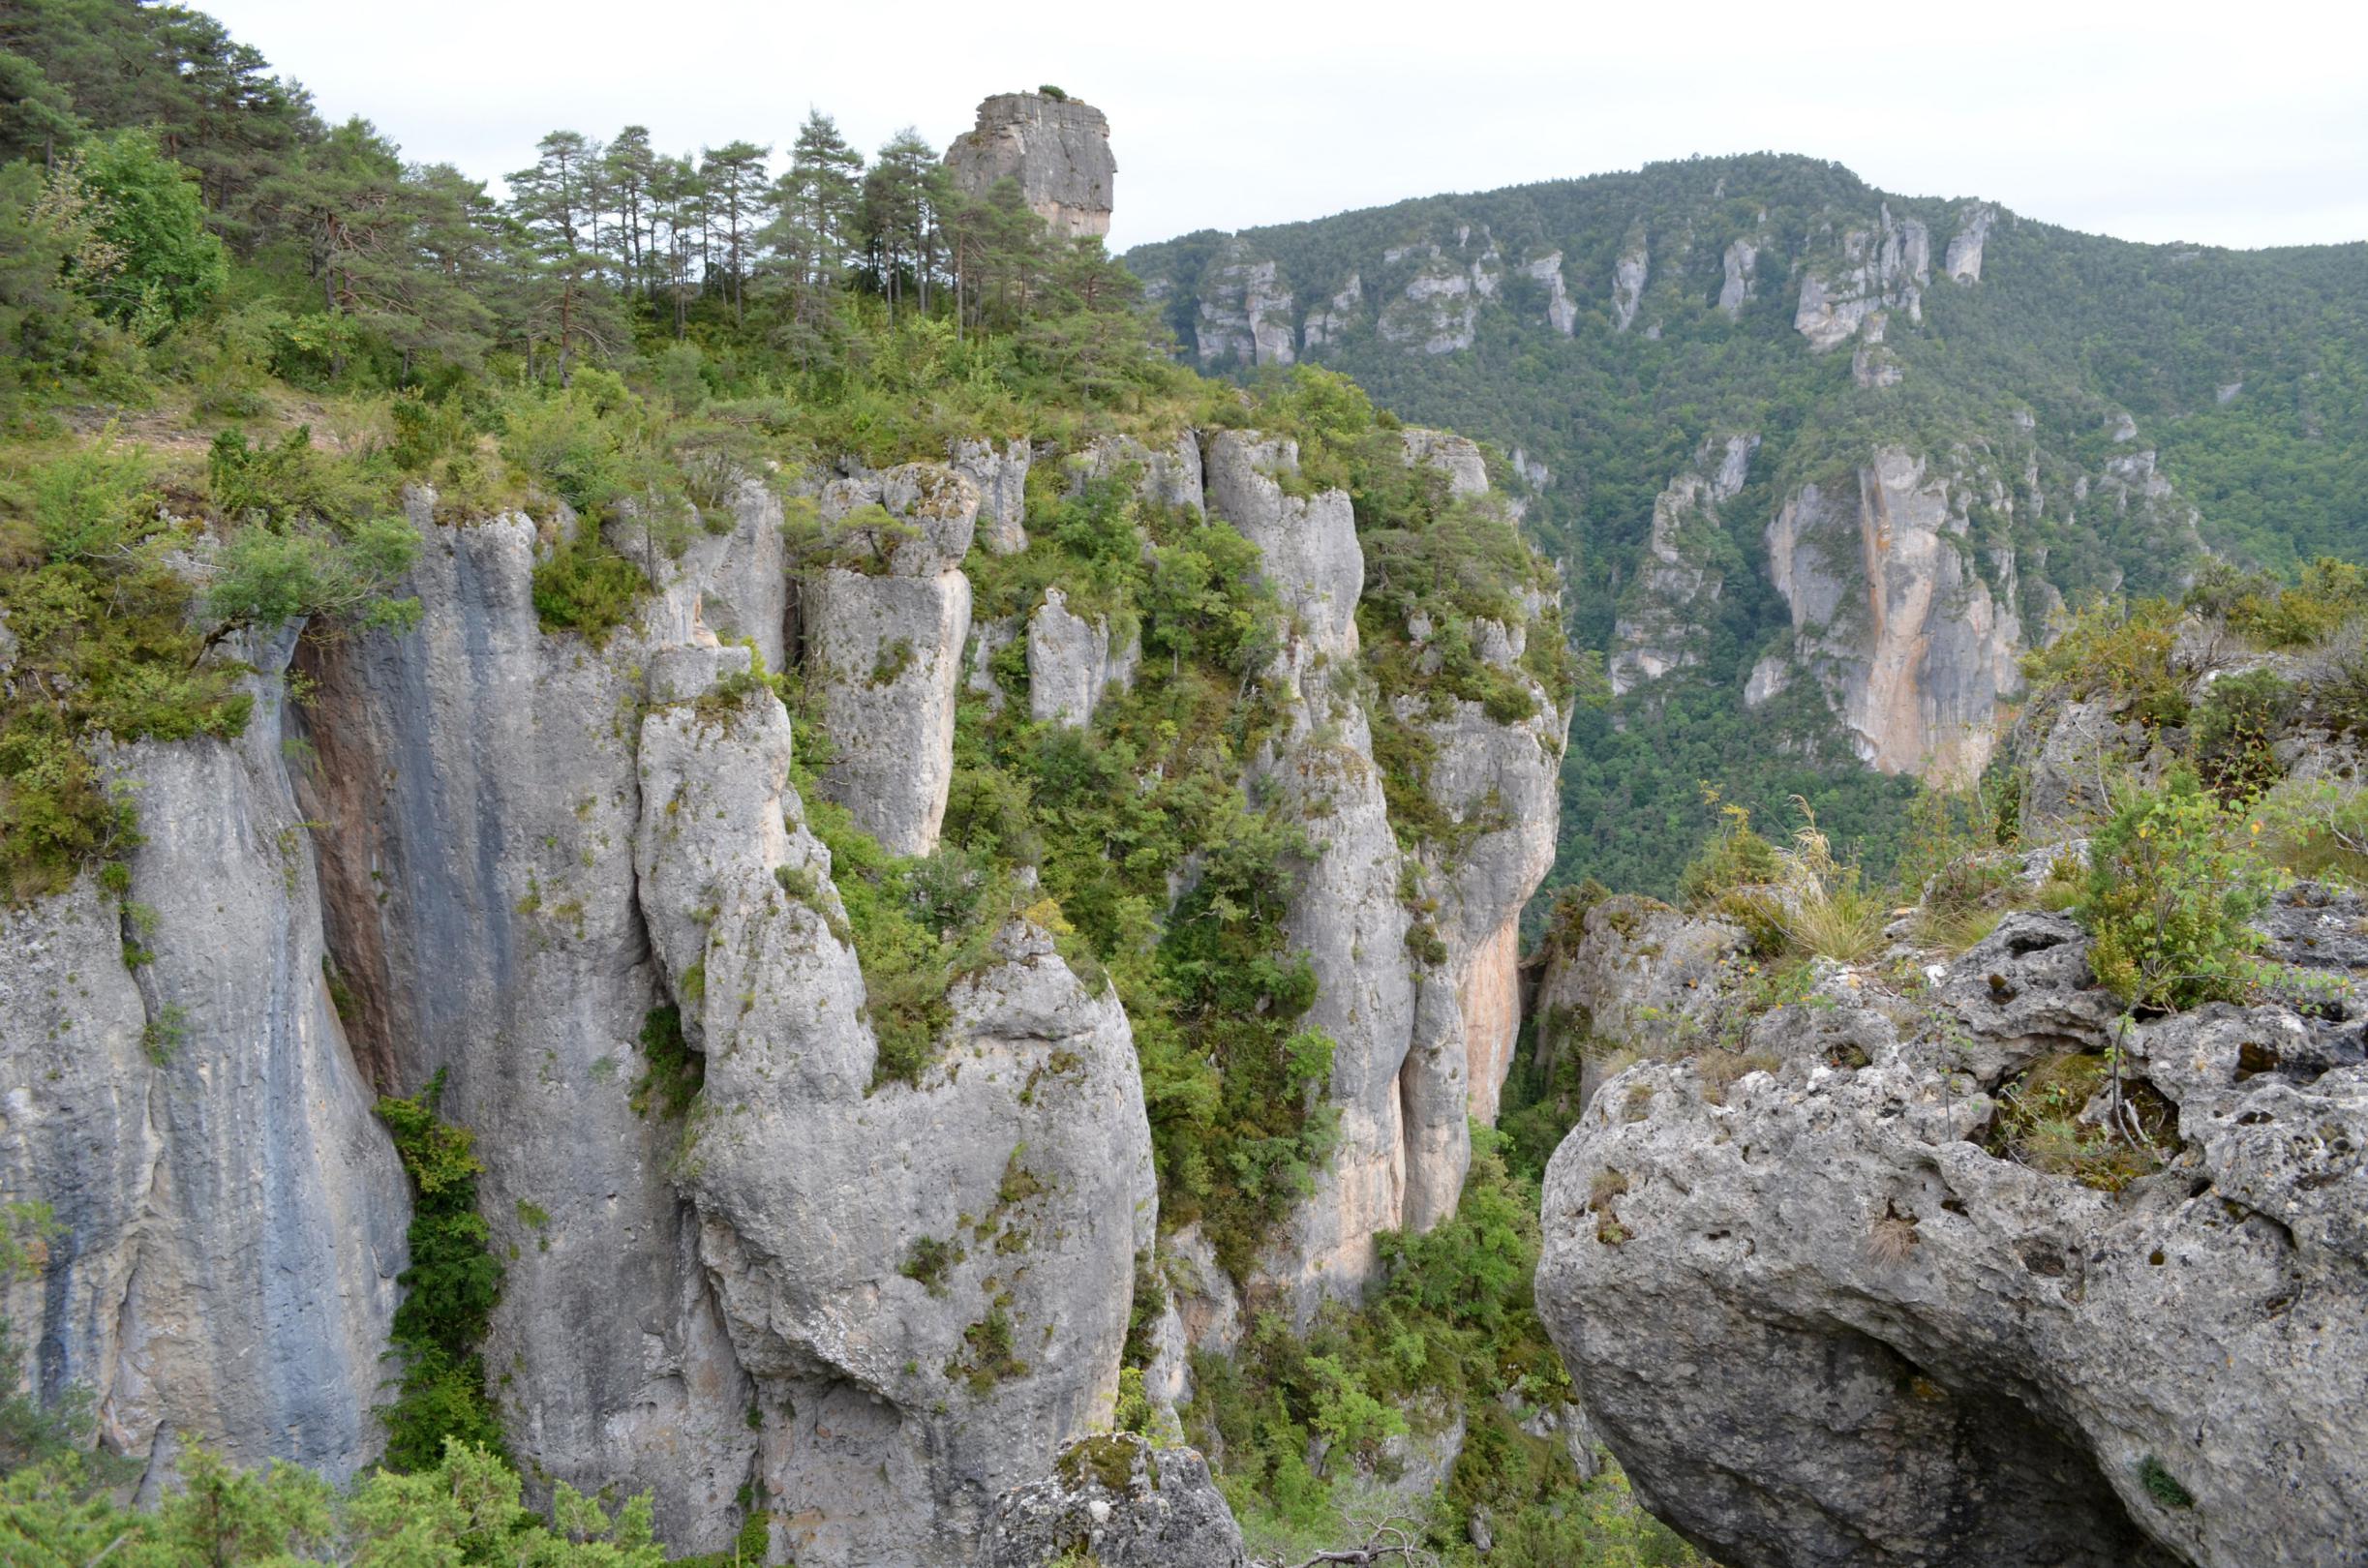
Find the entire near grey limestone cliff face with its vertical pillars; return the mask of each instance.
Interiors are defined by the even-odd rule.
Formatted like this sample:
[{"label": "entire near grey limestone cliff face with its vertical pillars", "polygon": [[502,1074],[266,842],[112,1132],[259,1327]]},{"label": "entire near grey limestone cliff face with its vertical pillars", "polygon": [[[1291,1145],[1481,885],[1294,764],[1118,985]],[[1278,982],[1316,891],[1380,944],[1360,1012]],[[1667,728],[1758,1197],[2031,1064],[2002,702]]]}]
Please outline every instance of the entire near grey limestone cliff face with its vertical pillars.
[{"label": "entire near grey limestone cliff face with its vertical pillars", "polygon": [[[372,1459],[410,1215],[369,1087],[440,1073],[440,1116],[485,1165],[488,1393],[528,1473],[651,1490],[677,1549],[765,1509],[779,1561],[966,1563],[997,1499],[1111,1419],[1137,1270],[1205,1258],[1158,1236],[1132,1023],[1035,905],[983,928],[931,1059],[883,1073],[876,976],[758,677],[800,675],[834,741],[819,786],[879,853],[935,846],[957,675],[1004,642],[1025,642],[1023,713],[1044,722],[1087,727],[1125,689],[1139,649],[1058,583],[973,635],[969,573],[1028,550],[1035,455],[952,452],[961,469],[822,486],[834,554],[796,585],[765,486],[680,559],[613,523],[651,587],[597,644],[545,630],[533,595],[590,523],[438,523],[412,493],[412,630],[305,642],[287,727],[296,640],[256,649],[242,741],[118,758],[147,834],[130,891],[85,879],[12,912],[0,957],[0,1158],[9,1196],[64,1225],[45,1286],[7,1303],[43,1388],[95,1388],[107,1442],[152,1476],[182,1433],[332,1473]],[[1404,462],[1497,505],[1468,441],[1409,431]],[[1563,715],[1544,692],[1520,722],[1409,708],[1471,831],[1402,850],[1352,680],[1347,495],[1300,493],[1291,443],[1248,431],[1210,436],[1205,464],[1184,431],[1063,467],[1234,526],[1291,611],[1265,675],[1288,722],[1253,789],[1314,843],[1288,933],[1319,976],[1310,1023],[1338,1040],[1345,1135],[1253,1286],[1312,1312],[1366,1277],[1378,1229],[1454,1208],[1466,1118],[1494,1113]],[[1551,628],[1542,599],[1482,625],[1499,668],[1532,623]],[[1409,886],[1437,910],[1423,962]],[[1172,1355],[1186,1324],[1238,1331],[1179,1315]]]}]

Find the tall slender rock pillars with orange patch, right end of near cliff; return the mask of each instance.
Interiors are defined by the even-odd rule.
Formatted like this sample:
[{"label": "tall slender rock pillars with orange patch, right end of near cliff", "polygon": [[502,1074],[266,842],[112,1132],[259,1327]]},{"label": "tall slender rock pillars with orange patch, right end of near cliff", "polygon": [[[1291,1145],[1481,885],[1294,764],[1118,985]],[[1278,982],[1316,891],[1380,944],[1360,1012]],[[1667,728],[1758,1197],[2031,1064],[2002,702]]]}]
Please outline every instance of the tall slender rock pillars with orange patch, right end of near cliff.
[{"label": "tall slender rock pillars with orange patch, right end of near cliff", "polygon": [[[1487,483],[1471,443],[1411,431],[1407,452],[1440,467],[1452,490]],[[1553,770],[1568,713],[1539,689],[1520,725],[1492,722],[1478,703],[1433,720],[1430,791],[1461,820],[1487,815],[1487,827],[1454,857],[1409,865],[1373,760],[1373,720],[1350,677],[1364,592],[1357,521],[1343,490],[1286,493],[1281,481],[1295,471],[1288,441],[1246,431],[1210,441],[1208,509],[1260,547],[1293,621],[1276,656],[1288,727],[1260,772],[1317,843],[1288,931],[1317,973],[1307,1023],[1336,1042],[1340,1135],[1257,1284],[1305,1322],[1371,1277],[1378,1232],[1426,1229],[1454,1208],[1471,1158],[1466,1118],[1494,1120],[1520,1026],[1520,907],[1553,862]],[[1520,649],[1506,640],[1499,656],[1516,666]],[[1409,957],[1409,874],[1440,886],[1449,910],[1437,928],[1444,955],[1430,964]]]}]

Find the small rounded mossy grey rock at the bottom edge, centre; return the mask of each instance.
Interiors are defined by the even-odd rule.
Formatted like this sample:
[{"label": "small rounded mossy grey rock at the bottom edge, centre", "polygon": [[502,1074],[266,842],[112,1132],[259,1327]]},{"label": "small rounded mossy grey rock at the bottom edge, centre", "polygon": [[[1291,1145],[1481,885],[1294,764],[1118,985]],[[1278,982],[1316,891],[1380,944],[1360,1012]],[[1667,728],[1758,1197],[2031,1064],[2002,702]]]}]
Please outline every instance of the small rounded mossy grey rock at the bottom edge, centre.
[{"label": "small rounded mossy grey rock at the bottom edge, centre", "polygon": [[1243,1568],[1241,1525],[1189,1447],[1087,1438],[995,1504],[980,1568]]}]

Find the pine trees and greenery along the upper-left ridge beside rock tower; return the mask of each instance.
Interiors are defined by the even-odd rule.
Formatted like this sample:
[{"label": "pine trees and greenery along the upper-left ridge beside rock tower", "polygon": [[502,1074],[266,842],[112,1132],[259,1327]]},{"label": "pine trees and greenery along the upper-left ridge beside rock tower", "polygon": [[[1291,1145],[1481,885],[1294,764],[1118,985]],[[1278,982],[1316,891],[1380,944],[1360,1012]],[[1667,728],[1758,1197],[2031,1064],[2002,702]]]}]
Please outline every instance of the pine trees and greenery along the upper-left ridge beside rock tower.
[{"label": "pine trees and greenery along the upper-left ridge beside rock tower", "polygon": [[[88,379],[104,343],[76,332],[78,303],[156,343],[225,289],[298,317],[270,329],[277,374],[308,358],[346,381],[372,360],[362,379],[384,386],[488,355],[566,379],[699,320],[812,369],[845,353],[848,291],[957,336],[1127,315],[1139,296],[1099,244],[1051,239],[1016,185],[959,189],[914,130],[867,161],[819,111],[781,173],[748,140],[665,154],[644,126],[554,130],[497,199],[450,163],[407,163],[369,121],[327,123],[213,19],[137,0],[7,7],[0,99],[12,381]],[[1141,343],[1132,322],[1075,336],[1056,351],[1087,362]]]}]

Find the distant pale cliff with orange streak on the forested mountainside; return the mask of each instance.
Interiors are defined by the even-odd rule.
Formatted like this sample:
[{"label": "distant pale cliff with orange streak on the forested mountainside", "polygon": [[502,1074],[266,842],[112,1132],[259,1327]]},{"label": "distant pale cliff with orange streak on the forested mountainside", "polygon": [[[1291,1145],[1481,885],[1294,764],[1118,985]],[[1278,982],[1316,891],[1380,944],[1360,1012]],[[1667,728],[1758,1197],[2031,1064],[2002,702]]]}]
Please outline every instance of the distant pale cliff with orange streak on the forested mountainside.
[{"label": "distant pale cliff with orange streak on the forested mountainside", "polygon": [[2020,689],[2013,557],[1991,557],[1994,590],[1963,545],[1970,486],[1904,450],[1878,450],[1854,478],[1802,486],[1767,531],[1795,661],[1868,765],[1970,779]]}]

